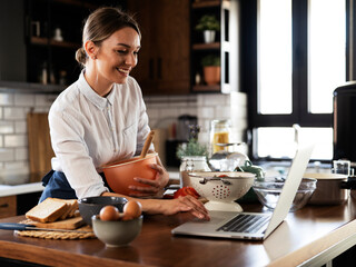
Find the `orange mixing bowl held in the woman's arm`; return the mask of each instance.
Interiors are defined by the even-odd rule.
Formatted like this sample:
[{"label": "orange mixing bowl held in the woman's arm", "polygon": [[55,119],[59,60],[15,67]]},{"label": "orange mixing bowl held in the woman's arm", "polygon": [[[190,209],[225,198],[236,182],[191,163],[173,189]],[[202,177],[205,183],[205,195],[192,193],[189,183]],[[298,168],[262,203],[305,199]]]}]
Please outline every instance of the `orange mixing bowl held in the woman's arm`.
[{"label": "orange mixing bowl held in the woman's arm", "polygon": [[140,156],[134,157],[117,164],[102,166],[102,170],[109,187],[118,194],[130,195],[137,191],[129,189],[129,186],[145,187],[134,180],[135,177],[154,180],[157,170],[154,170],[150,165],[157,164],[157,154],[148,154],[145,158]]}]

